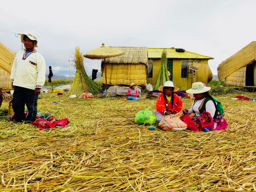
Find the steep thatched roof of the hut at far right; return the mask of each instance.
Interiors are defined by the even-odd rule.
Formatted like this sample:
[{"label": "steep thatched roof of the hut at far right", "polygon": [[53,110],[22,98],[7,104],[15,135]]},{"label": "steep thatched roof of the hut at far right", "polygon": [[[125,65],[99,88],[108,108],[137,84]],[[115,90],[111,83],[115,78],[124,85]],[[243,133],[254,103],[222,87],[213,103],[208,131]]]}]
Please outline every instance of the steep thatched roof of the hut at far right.
[{"label": "steep thatched roof of the hut at far right", "polygon": [[219,64],[218,78],[223,80],[236,70],[255,61],[256,58],[256,41],[249,43],[247,46],[236,52],[234,55]]}]

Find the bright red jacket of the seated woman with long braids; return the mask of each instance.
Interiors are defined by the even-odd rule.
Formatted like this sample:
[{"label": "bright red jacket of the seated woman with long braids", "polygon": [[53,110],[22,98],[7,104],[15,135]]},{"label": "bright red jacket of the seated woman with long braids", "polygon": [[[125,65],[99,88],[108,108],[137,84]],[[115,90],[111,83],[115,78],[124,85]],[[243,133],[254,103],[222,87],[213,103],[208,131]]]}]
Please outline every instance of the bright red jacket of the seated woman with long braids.
[{"label": "bright red jacket of the seated woman with long braids", "polygon": [[[167,100],[168,102],[168,100]],[[182,106],[183,103],[180,99],[180,97],[178,97],[176,94],[174,94],[174,103],[173,103],[173,107],[171,109],[171,101],[170,103],[168,103],[167,106],[167,110],[170,112],[174,112],[176,111],[176,113],[180,112],[182,110]],[[159,111],[161,114],[164,114],[164,111],[166,110],[165,107],[165,99],[164,99],[164,95],[160,94],[158,96],[158,99],[156,100],[156,111]]]}]

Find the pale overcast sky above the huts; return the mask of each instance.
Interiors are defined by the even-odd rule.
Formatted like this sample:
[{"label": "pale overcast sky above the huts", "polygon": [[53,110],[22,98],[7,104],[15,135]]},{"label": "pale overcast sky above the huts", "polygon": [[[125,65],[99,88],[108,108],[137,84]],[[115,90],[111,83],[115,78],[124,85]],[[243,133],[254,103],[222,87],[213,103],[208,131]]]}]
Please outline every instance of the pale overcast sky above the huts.
[{"label": "pale overcast sky above the huts", "polygon": [[[17,53],[20,37],[10,31],[39,36],[37,50],[55,75],[69,75],[76,46],[86,53],[102,43],[183,48],[214,57],[217,75],[223,60],[256,41],[255,17],[256,0],[10,0],[0,5],[0,42]],[[84,60],[88,73],[100,63]]]}]

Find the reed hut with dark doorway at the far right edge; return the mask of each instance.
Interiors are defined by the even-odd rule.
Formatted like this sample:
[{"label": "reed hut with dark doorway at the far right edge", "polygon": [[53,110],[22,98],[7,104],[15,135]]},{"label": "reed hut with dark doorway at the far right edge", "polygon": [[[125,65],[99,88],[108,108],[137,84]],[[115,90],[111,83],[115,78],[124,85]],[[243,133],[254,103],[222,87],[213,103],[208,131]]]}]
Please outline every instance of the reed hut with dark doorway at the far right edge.
[{"label": "reed hut with dark doorway at the far right edge", "polygon": [[256,86],[256,41],[236,52],[219,64],[219,80],[225,79],[225,84],[236,87]]}]

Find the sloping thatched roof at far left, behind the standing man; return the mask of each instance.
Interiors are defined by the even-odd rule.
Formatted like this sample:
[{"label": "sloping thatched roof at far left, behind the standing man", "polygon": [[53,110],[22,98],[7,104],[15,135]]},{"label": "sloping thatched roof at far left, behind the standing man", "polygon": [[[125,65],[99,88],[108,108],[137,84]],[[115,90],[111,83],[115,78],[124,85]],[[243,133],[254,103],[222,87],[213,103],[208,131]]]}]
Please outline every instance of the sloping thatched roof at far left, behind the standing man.
[{"label": "sloping thatched roof at far left, behind the standing man", "polygon": [[15,58],[15,53],[12,52],[7,47],[5,47],[0,42],[0,67],[3,68],[9,74],[11,74],[11,67],[12,67],[14,58]]}]

